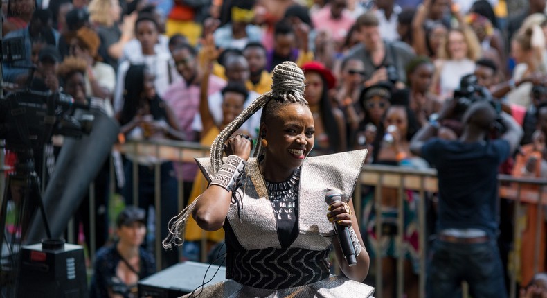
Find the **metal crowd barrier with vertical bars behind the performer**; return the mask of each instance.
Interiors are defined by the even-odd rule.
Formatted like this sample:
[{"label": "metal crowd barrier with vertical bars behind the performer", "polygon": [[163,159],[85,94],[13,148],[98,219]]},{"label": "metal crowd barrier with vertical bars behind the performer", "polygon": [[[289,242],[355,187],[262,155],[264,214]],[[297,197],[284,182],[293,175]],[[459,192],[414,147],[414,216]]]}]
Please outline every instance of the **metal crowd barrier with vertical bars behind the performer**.
[{"label": "metal crowd barrier with vertical bars behind the performer", "polygon": [[[3,149],[3,148],[0,148]],[[3,151],[3,150],[0,150]],[[153,155],[154,157],[158,157],[159,159],[164,160],[170,160],[170,161],[193,161],[196,157],[208,157],[209,156],[209,148],[199,146],[199,144],[196,143],[189,143],[189,142],[181,142],[181,141],[128,141],[124,144],[117,144],[113,148],[113,152],[119,152],[121,154],[133,154],[133,155]],[[3,156],[1,156],[0,153],[0,161],[3,165]],[[110,169],[111,173],[114,173],[114,161],[111,159],[110,161]],[[5,169],[0,168],[1,172],[3,172]],[[160,187],[160,168],[159,165],[155,167],[155,202],[156,206],[159,206],[159,198],[161,193],[161,187]],[[134,183],[134,202],[138,202],[138,191],[136,187],[138,187],[138,165],[134,164],[133,169],[133,179],[136,181]],[[114,175],[111,175],[111,193],[114,193]],[[538,191],[530,191],[527,189],[523,189],[523,186],[539,186]],[[358,183],[355,189],[355,193],[353,196],[354,205],[355,205],[355,213],[361,215],[362,209],[361,209],[361,189],[364,186],[375,186],[375,204],[379,204],[381,198],[382,198],[382,187],[389,187],[393,189],[397,189],[398,191],[398,214],[403,213],[403,204],[402,200],[404,198],[404,191],[415,191],[419,193],[420,198],[425,198],[426,193],[435,193],[437,191],[437,178],[436,178],[436,170],[433,169],[427,169],[427,170],[413,170],[410,168],[402,168],[397,166],[378,166],[378,165],[365,165],[361,171],[361,175],[359,175]],[[378,187],[382,186],[382,187]],[[535,225],[538,229],[536,229],[537,233],[539,233],[540,225],[544,225],[544,217],[541,216],[541,213],[545,212],[547,208],[547,194],[543,190],[544,186],[547,186],[547,180],[546,179],[534,179],[534,178],[517,178],[512,177],[510,175],[499,175],[499,195],[500,198],[508,199],[508,200],[514,200],[516,204],[514,204],[514,212],[513,216],[514,218],[517,218],[519,216],[521,204],[520,203],[527,203],[527,204],[541,204],[543,208],[537,208],[537,220],[535,222]],[[4,187],[4,180],[0,182],[0,191],[3,193],[3,187]],[[94,212],[95,212],[95,204],[94,204],[94,194],[93,194],[93,185],[90,186],[90,200],[89,200],[89,210],[91,212],[90,218],[92,220],[91,227],[93,229],[95,223],[93,220],[95,219]],[[179,210],[183,209],[183,193],[186,191],[190,191],[188,189],[183,189],[183,184],[179,182]],[[427,239],[426,239],[426,206],[425,202],[426,200],[419,200],[418,204],[418,229],[419,229],[419,256],[420,256],[420,273],[419,273],[419,297],[425,297],[425,283],[426,283],[426,247],[427,247]],[[376,218],[380,219],[382,218],[380,216],[381,209],[376,208]],[[161,220],[159,209],[156,209],[156,227],[159,225],[159,222]],[[359,217],[359,220],[361,220],[361,217]],[[514,240],[515,242],[520,241],[521,239],[521,222],[520,220],[514,220]],[[73,225],[69,225],[69,229]],[[402,216],[399,216],[397,218],[397,231],[403,231],[404,226],[404,218]],[[381,222],[378,222],[376,225],[376,234],[378,238],[382,236],[382,225]],[[154,229],[155,231],[155,252],[156,252],[156,263],[158,264],[158,270],[161,270],[161,239],[164,235],[160,235],[160,229]],[[72,233],[69,231],[67,233],[69,235],[69,243],[74,243],[75,239],[71,238]],[[91,231],[91,247],[89,247],[89,256],[91,260],[93,260],[95,256],[96,249],[98,247],[95,246],[96,239],[94,231]],[[537,266],[537,260],[539,259],[539,254],[542,252],[539,252],[539,235],[536,237],[536,243],[533,243],[535,247],[534,252],[534,264],[535,264],[535,272],[538,270]],[[396,236],[396,242],[398,244],[403,242],[403,235],[402,233],[398,233]],[[205,246],[206,240],[202,240],[201,247]],[[379,242],[377,242],[379,243]],[[529,244],[529,243],[528,243]],[[402,245],[396,245],[396,247],[400,247],[402,249]],[[204,251],[204,249],[202,249]],[[379,251],[379,244],[376,247],[376,251]],[[544,252],[543,252],[544,253]],[[397,258],[397,277],[396,277],[396,285],[397,285],[397,297],[404,297],[403,289],[404,289],[404,254],[400,253],[398,254],[399,257]],[[206,252],[202,252],[201,254],[201,261],[206,260]],[[513,268],[517,267],[517,264],[519,262],[519,257],[513,258],[511,260],[513,262],[512,265]],[[382,256],[380,254],[377,254],[375,257],[375,260],[371,260],[371,263],[382,263]],[[511,267],[511,266],[510,266]],[[376,265],[373,266],[373,273],[375,276],[375,281],[377,285],[382,285],[382,266]],[[515,297],[515,293],[517,287],[517,271],[516,270],[510,270],[510,297]],[[382,287],[377,287],[376,294],[377,297],[382,297]]]}]

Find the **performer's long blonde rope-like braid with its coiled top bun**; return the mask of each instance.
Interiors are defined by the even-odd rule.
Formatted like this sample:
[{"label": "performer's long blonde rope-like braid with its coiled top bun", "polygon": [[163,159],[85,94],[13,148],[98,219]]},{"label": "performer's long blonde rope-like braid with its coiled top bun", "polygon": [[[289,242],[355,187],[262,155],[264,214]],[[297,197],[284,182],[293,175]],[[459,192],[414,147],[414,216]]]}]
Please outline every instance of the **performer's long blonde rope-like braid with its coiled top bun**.
[{"label": "performer's long blonde rope-like braid with its coiled top bun", "polygon": [[[259,109],[264,107],[270,100],[276,100],[280,103],[303,103],[307,105],[307,101],[304,99],[305,77],[302,70],[294,64],[294,62],[285,61],[282,64],[278,64],[272,72],[273,82],[271,84],[271,91],[262,94],[259,98],[256,98],[249,107],[243,110],[231,123],[226,125],[226,128],[222,130],[213,141],[213,145],[210,147],[210,159],[211,166],[213,166],[213,176],[217,174],[219,168],[222,166],[222,155],[224,155],[224,143],[231,135],[237,131],[243,125],[243,123],[251,118]],[[262,148],[262,137],[258,136],[257,147],[253,157],[257,157],[262,154],[264,148]],[[184,229],[186,228],[186,221],[192,214],[195,205],[199,197],[195,198],[192,204],[169,221],[168,229],[169,234],[162,241],[163,248],[172,249],[172,245],[181,246],[184,243]]]}]

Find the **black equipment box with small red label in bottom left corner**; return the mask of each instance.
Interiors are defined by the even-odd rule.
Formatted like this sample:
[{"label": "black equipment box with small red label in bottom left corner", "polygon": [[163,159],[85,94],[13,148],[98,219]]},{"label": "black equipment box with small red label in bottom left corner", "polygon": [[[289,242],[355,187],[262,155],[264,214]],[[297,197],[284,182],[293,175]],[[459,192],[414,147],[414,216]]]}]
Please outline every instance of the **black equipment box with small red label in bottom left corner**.
[{"label": "black equipment box with small red label in bottom left corner", "polygon": [[17,297],[89,297],[83,247],[64,240],[42,245],[21,249]]}]

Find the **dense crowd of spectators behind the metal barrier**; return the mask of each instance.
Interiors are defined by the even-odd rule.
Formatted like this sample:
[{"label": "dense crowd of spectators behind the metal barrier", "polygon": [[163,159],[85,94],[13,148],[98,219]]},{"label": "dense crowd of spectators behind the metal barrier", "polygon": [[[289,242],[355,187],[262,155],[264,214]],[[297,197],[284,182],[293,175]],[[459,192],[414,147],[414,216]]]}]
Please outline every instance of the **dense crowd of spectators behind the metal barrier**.
[{"label": "dense crowd of spectators behind the metal barrier", "polygon": [[[290,61],[305,75],[303,98],[314,123],[314,146],[306,156],[367,149],[367,164],[437,168],[444,182],[456,176],[445,173],[443,165],[470,171],[477,167],[465,168],[458,158],[440,159],[445,152],[467,150],[468,159],[492,159],[481,168],[487,173],[476,179],[487,175],[491,179],[485,185],[496,188],[492,175],[497,173],[547,177],[546,1],[528,0],[513,14],[505,5],[503,0],[9,0],[2,12],[3,39],[21,41],[17,49],[22,52],[19,58],[2,61],[3,82],[7,91],[30,87],[62,91],[82,104],[91,98],[104,100],[120,123],[120,141],[172,139],[212,146],[244,109],[271,91],[275,67]],[[470,108],[476,102],[488,105]],[[260,113],[255,113],[232,133],[264,140],[269,135],[264,135],[263,125]],[[479,155],[486,149],[464,150],[440,141],[483,139],[507,143],[488,143],[488,152]],[[276,165],[269,159],[264,163]],[[209,181],[194,163],[125,155],[117,191],[132,205],[137,190],[145,217],[154,205],[156,165],[161,172],[161,205],[154,207],[160,209],[157,228],[165,236],[168,221],[178,213],[178,185],[183,185],[188,205],[208,190]],[[136,168],[138,186],[133,182]],[[276,175],[267,175],[264,172],[266,179],[279,182]],[[474,176],[463,176],[467,184],[476,182]],[[405,191],[402,200],[397,189],[383,188],[379,204],[373,188],[364,190],[359,237],[371,260],[384,256],[384,284],[376,285],[382,286],[384,297],[395,295],[395,258],[400,252],[405,258],[404,291],[407,297],[418,297],[417,235],[425,231],[418,227],[418,202],[427,200],[433,217],[443,212],[465,217],[476,211],[471,206],[474,197],[457,206],[443,200],[458,193],[456,186],[467,184],[440,184],[440,193],[426,198]],[[105,198],[98,205],[104,210],[107,192],[100,193]],[[514,204],[501,200],[499,208],[494,206],[496,193],[483,198],[489,199],[481,207],[473,206],[487,209],[480,209],[485,222],[452,226],[441,220],[428,233],[445,242],[467,239],[458,240],[459,245],[475,240],[485,244],[478,250],[499,247],[499,254],[489,257],[499,259],[506,270],[514,224],[507,218]],[[404,214],[399,214],[400,202]],[[521,259],[521,285],[535,280],[535,266],[539,271],[547,268],[546,216],[538,208],[544,209],[524,204],[521,218],[514,219],[525,223],[523,240],[514,244],[519,247],[515,253]],[[376,218],[377,209],[382,218]],[[536,226],[538,214],[541,225]],[[144,222],[140,216],[136,222]],[[403,231],[397,231],[398,216],[404,216]],[[104,223],[107,216],[103,219]],[[376,235],[379,222],[382,238]],[[119,223],[118,232],[123,234],[127,226]],[[199,249],[208,250],[225,238],[222,229],[208,229],[208,247],[200,247],[200,227],[200,222],[188,220],[183,258],[197,261]],[[536,229],[541,253],[538,263],[532,264],[535,247],[529,243],[535,243]],[[492,239],[499,231],[496,243]],[[404,235],[402,244],[396,240],[399,233]],[[98,245],[108,236],[107,229],[98,229]],[[438,258],[453,249],[433,247]],[[136,250],[132,252],[134,256]],[[161,265],[179,260],[176,250],[163,252]],[[127,271],[127,262],[122,263]],[[490,270],[503,272],[497,265]],[[458,275],[456,269],[452,273]],[[134,283],[136,276],[129,275]],[[501,279],[493,284],[503,287],[506,282]],[[443,283],[436,282],[436,290],[445,293]],[[539,286],[533,288],[539,291]],[[480,289],[472,290],[482,297]]]}]

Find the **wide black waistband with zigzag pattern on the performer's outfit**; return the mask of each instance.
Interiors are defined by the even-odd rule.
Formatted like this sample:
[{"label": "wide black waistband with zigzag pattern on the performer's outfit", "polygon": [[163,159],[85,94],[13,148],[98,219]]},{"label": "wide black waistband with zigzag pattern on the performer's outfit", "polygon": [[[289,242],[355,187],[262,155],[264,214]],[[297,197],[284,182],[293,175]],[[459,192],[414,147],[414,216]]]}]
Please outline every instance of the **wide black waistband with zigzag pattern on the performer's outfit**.
[{"label": "wide black waistband with zigzag pattern on the performer's outfit", "polygon": [[329,277],[329,252],[280,247],[231,252],[226,255],[226,278],[253,288],[303,286]]}]

